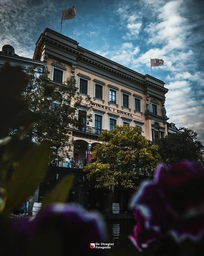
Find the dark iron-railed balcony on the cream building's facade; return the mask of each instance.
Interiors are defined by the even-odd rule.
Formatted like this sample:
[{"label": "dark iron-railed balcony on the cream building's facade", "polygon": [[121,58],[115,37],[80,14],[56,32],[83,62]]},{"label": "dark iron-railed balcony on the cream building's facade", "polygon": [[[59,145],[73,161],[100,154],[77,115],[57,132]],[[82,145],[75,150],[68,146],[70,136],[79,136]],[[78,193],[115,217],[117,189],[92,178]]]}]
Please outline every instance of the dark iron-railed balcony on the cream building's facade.
[{"label": "dark iron-railed balcony on the cream building's facade", "polygon": [[85,125],[83,127],[78,127],[73,131],[73,136],[77,136],[80,138],[90,138],[90,139],[98,139],[98,136],[102,134],[104,129],[91,127],[88,125]]}]

